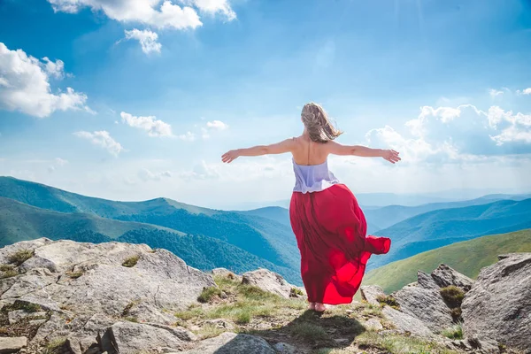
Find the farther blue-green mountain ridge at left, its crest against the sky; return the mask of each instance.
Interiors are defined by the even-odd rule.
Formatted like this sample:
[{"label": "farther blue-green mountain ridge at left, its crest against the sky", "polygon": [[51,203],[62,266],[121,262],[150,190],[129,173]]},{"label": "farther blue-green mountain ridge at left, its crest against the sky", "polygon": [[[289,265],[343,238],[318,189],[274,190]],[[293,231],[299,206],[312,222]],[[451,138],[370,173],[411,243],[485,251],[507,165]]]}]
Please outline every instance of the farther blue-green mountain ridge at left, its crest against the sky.
[{"label": "farther blue-green mountain ridge at left, its crest against the sky", "polygon": [[[11,177],[0,177],[0,196],[55,212],[85,213],[167,227],[187,235],[204,235],[232,244],[283,269],[298,271],[300,266],[291,227],[258,215],[216,211],[166,198],[115,202]],[[293,274],[282,275],[290,281],[300,282],[300,279],[293,279]]]}]

